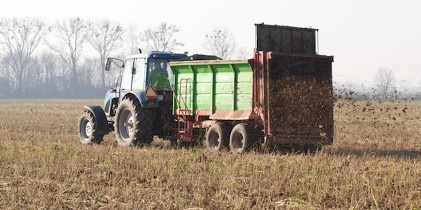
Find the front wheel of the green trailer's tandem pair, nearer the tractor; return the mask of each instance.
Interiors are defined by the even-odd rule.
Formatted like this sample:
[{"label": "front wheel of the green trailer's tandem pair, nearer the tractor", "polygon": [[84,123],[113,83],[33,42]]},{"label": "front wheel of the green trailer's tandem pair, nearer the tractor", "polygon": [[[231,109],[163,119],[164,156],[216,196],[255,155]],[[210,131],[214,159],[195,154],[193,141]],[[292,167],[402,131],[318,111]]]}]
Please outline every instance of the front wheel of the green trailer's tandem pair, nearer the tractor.
[{"label": "front wheel of the green trailer's tandem pair, nearer the tractor", "polygon": [[228,146],[229,126],[223,123],[213,124],[206,132],[206,147],[213,151],[222,151]]}]

